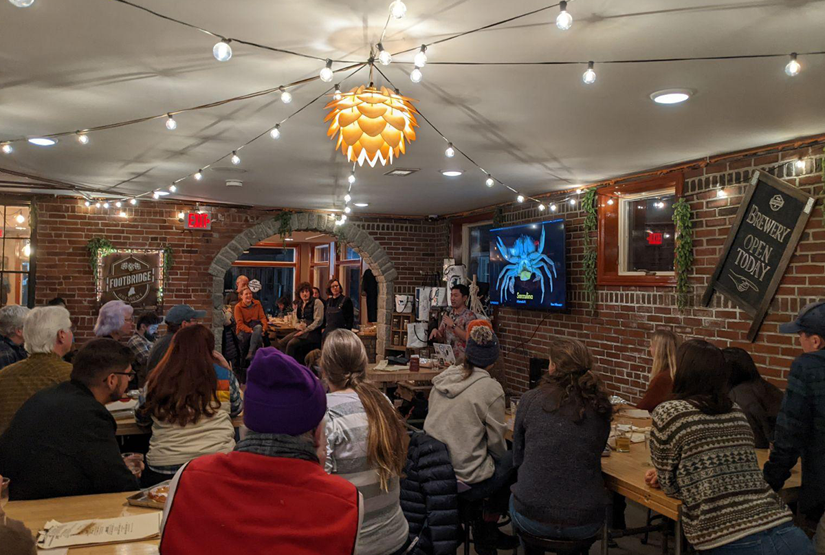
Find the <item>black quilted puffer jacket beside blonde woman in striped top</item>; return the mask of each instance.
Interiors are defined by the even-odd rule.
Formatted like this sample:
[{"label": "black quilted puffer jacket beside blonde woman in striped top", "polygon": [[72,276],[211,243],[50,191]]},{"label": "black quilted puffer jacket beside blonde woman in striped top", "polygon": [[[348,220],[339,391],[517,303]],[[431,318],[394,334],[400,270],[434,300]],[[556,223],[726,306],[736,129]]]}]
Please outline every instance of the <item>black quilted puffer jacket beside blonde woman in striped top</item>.
[{"label": "black quilted puffer jacket beside blonde woman in striped top", "polygon": [[413,434],[401,481],[401,510],[416,551],[427,555],[455,553],[462,542],[455,472],[445,444],[427,434]]}]

